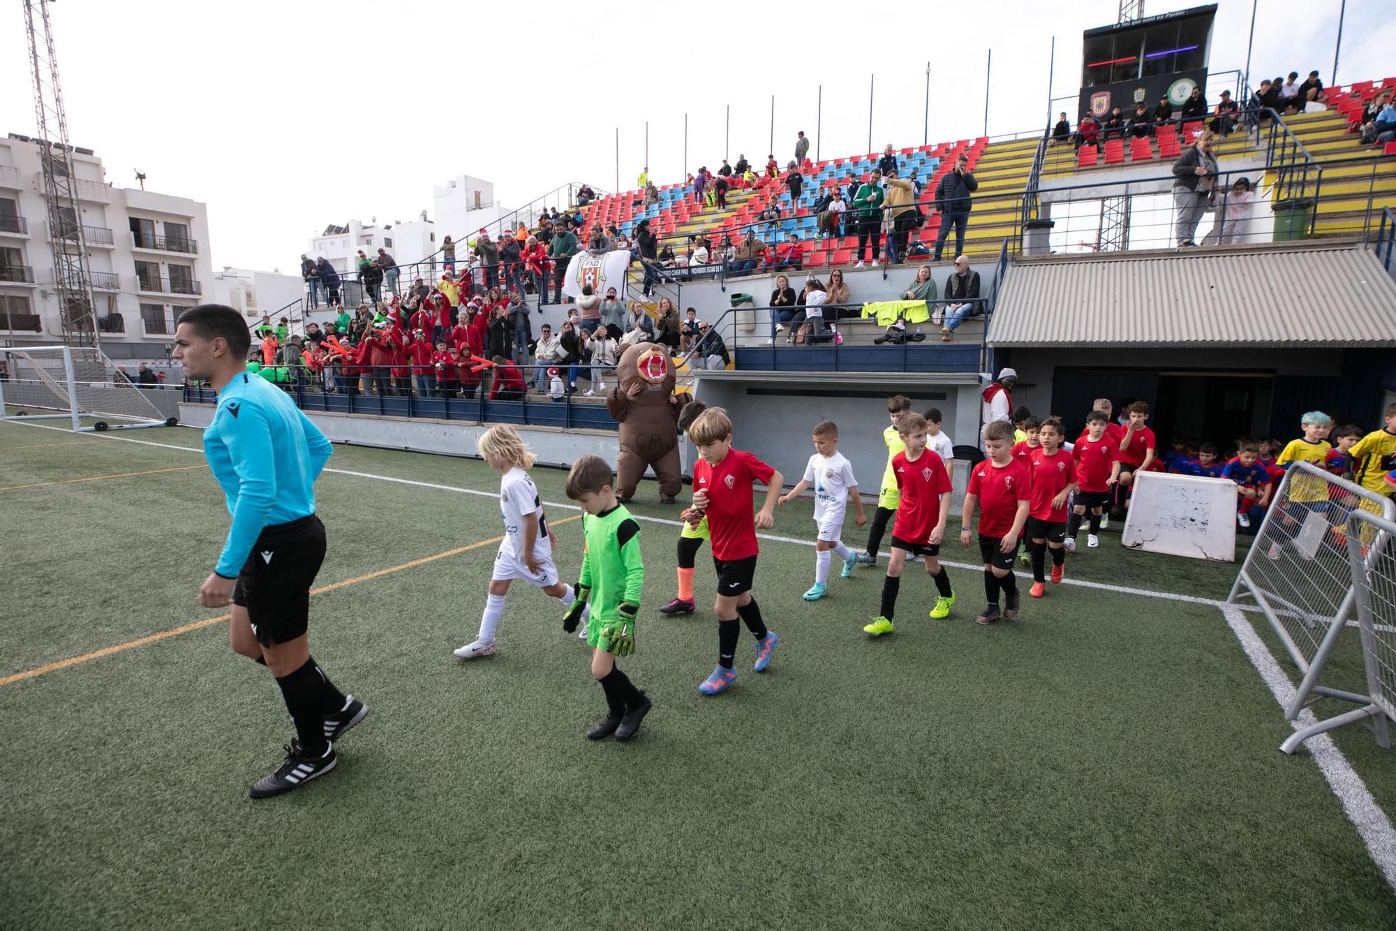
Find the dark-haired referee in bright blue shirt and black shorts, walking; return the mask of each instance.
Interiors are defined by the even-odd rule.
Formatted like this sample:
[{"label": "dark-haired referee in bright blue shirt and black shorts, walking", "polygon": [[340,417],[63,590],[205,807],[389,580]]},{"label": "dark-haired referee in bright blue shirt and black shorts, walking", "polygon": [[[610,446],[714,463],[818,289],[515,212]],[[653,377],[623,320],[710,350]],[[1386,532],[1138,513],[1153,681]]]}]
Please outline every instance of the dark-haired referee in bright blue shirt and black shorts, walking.
[{"label": "dark-haired referee in bright blue shirt and black shorts, walking", "polygon": [[285,391],[247,372],[250,344],[242,315],[205,303],[180,315],[172,358],[218,393],[204,454],[233,516],[198,602],[232,604],[233,650],[271,670],[296,724],[286,760],[251,787],[253,798],[267,798],[334,769],[334,741],[369,707],[329,682],[306,637],[310,586],[325,559],[314,484],[329,440]]}]

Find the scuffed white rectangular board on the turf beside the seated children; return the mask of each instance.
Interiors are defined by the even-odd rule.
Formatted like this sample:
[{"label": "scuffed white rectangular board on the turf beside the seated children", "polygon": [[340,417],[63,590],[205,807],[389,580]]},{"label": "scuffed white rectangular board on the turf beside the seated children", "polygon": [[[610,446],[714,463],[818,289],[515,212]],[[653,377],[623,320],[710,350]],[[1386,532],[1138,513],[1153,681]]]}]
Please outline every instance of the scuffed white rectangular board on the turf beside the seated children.
[{"label": "scuffed white rectangular board on the turf beside the seated children", "polygon": [[1235,562],[1235,482],[1135,472],[1121,542],[1131,549]]}]

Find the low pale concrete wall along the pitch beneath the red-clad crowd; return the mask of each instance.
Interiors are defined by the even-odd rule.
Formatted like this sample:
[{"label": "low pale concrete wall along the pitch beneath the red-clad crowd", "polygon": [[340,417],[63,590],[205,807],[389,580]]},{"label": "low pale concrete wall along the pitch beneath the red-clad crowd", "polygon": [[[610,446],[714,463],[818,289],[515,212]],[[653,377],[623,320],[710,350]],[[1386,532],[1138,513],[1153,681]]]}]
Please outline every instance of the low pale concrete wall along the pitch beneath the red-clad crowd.
[{"label": "low pale concrete wall along the pitch beneath the red-clad crowd", "polygon": [[[188,426],[208,426],[214,417],[211,404],[179,405],[179,418]],[[334,443],[357,443],[384,449],[406,449],[447,456],[479,456],[476,443],[489,424],[434,421],[423,417],[373,417],[362,414],[324,414],[306,411],[311,422]],[[550,426],[515,428],[533,449],[543,466],[571,466],[579,456],[593,453],[616,461],[616,433],[610,431],[561,431]]]}]

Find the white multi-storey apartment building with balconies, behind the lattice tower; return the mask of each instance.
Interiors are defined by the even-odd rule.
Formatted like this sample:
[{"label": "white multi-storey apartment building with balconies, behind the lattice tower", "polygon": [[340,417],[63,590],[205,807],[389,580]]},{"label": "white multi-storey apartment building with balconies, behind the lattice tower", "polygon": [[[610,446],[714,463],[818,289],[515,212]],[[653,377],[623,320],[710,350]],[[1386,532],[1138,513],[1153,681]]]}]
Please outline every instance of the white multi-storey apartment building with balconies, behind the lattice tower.
[{"label": "white multi-storey apartment building with balconies, behind the lattice tower", "polygon": [[[106,180],[92,150],[73,150],[99,340],[114,359],[163,359],[174,319],[208,294],[204,204]],[[0,140],[0,345],[61,341],[39,147]]]}]

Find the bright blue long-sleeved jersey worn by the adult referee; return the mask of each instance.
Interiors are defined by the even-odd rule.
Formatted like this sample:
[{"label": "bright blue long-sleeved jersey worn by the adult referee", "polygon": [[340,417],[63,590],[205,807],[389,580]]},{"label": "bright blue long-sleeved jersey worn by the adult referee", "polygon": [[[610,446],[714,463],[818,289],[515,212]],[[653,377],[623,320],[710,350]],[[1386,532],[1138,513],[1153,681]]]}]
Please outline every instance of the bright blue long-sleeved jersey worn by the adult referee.
[{"label": "bright blue long-sleeved jersey worn by the adult referee", "polygon": [[204,456],[228,498],[233,523],[214,572],[236,579],[262,527],[315,513],[315,478],[329,440],[285,391],[242,373],[218,393]]}]

